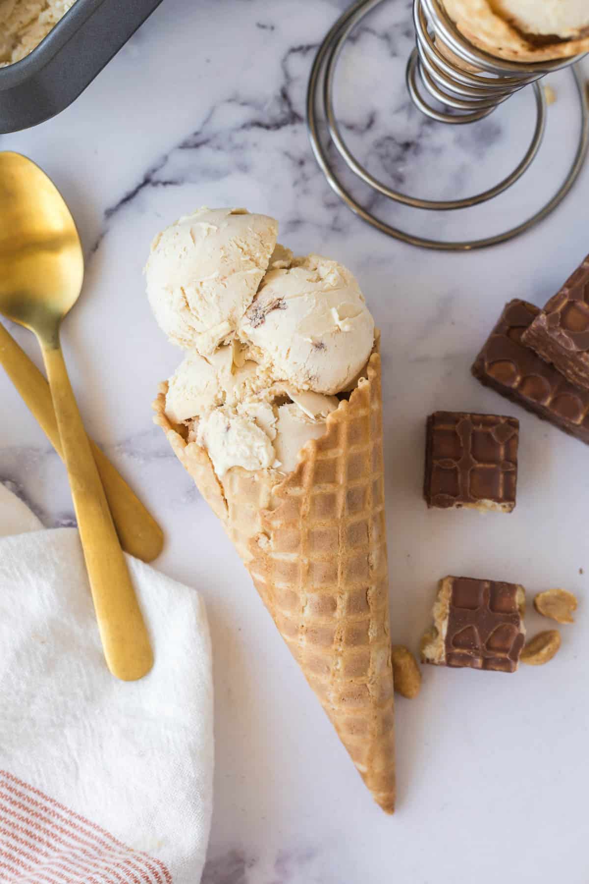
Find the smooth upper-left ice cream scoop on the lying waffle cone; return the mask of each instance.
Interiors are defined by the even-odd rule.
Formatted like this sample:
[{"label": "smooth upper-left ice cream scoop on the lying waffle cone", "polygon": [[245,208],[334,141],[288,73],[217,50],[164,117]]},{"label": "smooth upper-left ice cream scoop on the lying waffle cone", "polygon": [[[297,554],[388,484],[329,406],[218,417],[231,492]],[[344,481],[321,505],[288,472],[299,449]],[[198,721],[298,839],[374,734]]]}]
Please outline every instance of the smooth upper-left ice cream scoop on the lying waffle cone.
[{"label": "smooth upper-left ice cream scoop on the lying waffle cone", "polygon": [[236,328],[276,247],[278,224],[245,209],[200,209],[159,233],[147,297],[172,343],[202,355]]}]

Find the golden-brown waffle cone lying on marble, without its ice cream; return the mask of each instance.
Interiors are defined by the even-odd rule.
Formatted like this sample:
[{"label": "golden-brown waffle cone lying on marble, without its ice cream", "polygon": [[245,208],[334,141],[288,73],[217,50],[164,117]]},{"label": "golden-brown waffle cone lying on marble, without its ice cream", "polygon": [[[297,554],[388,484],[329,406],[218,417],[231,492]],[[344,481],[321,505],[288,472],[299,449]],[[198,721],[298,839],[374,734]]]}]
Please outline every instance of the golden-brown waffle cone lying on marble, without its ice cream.
[{"label": "golden-brown waffle cone lying on marble, without its ice cream", "polygon": [[366,374],[286,477],[236,467],[222,486],[208,453],[168,420],[167,385],[154,408],[374,800],[390,813],[395,731],[377,352]]}]

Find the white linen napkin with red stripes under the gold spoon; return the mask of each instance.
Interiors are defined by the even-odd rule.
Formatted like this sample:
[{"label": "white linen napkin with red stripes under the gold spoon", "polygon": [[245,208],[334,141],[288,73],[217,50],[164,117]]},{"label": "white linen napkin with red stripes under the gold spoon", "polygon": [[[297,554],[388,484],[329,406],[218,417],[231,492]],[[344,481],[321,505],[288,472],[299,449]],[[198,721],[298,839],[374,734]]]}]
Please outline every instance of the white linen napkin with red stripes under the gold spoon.
[{"label": "white linen napkin with red stripes under the gold spoon", "polygon": [[214,762],[199,594],[127,556],[155,666],[119,682],[78,531],[42,529],[0,484],[0,534],[0,881],[198,884]]}]

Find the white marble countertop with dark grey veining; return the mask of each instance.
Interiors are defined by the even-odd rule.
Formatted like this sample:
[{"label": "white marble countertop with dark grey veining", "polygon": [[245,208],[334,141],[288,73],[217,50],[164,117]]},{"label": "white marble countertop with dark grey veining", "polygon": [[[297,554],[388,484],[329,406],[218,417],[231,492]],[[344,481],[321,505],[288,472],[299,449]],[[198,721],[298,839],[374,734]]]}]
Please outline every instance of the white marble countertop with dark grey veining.
[{"label": "white marble countertop with dark grey veining", "polygon": [[[322,178],[304,120],[315,48],[344,5],[164,0],[78,101],[3,136],[0,149],[41,164],[72,208],[87,275],[63,337],[87,429],[161,521],[157,567],[208,606],[216,771],[206,884],[446,884],[475,875],[495,884],[506,870],[510,880],[585,884],[589,452],[480,387],[469,369],[505,301],[543,304],[589,250],[589,167],[546,222],[491,250],[428,253],[364,225]],[[445,198],[490,186],[524,152],[531,95],[475,126],[427,122],[404,89],[412,40],[407,0],[384,4],[354,35],[336,83],[344,133],[398,187]],[[443,236],[495,232],[538,208],[570,161],[578,126],[570,74],[550,83],[557,100],[545,144],[509,194],[456,217],[377,208]],[[563,586],[580,598],[549,666],[513,677],[430,667],[419,698],[399,699],[393,818],[372,803],[237,553],[151,423],[156,385],[180,353],[155,325],[141,269],[155,232],[201,204],[279,218],[280,240],[295,251],[348,264],[374,311],[393,640],[417,648],[436,581],[449,573],[521,582],[530,596]],[[39,364],[32,337],[11,331]],[[0,481],[45,524],[72,523],[64,468],[1,371],[0,401]],[[435,408],[519,417],[514,514],[427,512],[424,425]],[[532,633],[548,626],[529,615]]]}]

